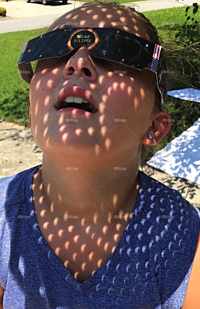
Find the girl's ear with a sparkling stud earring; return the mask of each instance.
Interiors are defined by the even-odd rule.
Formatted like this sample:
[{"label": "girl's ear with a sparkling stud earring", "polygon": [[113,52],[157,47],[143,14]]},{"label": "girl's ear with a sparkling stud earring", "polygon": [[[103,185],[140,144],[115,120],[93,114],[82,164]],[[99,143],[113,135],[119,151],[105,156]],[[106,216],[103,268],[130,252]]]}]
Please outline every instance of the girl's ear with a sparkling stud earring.
[{"label": "girl's ear with a sparkling stud earring", "polygon": [[[146,146],[154,146],[168,133],[171,128],[171,116],[168,112],[162,111],[156,113],[156,118],[152,121],[152,125],[146,131],[142,138],[142,143]],[[152,136],[152,139],[148,137]]]}]

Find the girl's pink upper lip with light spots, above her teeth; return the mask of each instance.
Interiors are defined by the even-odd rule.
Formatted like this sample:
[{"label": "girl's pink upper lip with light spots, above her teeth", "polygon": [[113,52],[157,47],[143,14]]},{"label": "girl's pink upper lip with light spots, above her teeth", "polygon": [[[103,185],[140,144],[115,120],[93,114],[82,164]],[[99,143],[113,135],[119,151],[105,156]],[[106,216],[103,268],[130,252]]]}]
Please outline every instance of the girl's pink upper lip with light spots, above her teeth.
[{"label": "girl's pink upper lip with light spots, above her teeth", "polygon": [[56,104],[55,104],[56,108],[60,107],[60,104],[63,101],[63,99],[65,99],[66,97],[71,96],[71,95],[80,96],[80,97],[86,99],[89,103],[92,104],[92,106],[94,107],[94,109],[96,111],[98,110],[98,107],[97,107],[97,105],[94,101],[94,98],[93,98],[90,90],[84,89],[84,88],[81,88],[81,87],[78,87],[78,86],[71,86],[71,87],[62,88],[59,91],[59,94],[58,94],[58,97],[57,97],[57,100],[56,100]]}]

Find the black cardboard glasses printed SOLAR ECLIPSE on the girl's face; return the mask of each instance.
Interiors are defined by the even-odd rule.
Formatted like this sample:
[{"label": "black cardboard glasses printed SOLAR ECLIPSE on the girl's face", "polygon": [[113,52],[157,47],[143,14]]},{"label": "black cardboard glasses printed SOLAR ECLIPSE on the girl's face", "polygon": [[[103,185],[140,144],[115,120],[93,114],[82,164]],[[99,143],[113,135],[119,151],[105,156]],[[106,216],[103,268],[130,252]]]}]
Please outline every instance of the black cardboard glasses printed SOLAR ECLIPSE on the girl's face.
[{"label": "black cardboard glasses printed SOLAR ECLIPSE on the girl's face", "polygon": [[30,83],[34,74],[32,61],[62,57],[81,45],[94,57],[155,72],[161,104],[165,106],[162,47],[118,28],[63,28],[25,42],[17,63],[22,78]]}]

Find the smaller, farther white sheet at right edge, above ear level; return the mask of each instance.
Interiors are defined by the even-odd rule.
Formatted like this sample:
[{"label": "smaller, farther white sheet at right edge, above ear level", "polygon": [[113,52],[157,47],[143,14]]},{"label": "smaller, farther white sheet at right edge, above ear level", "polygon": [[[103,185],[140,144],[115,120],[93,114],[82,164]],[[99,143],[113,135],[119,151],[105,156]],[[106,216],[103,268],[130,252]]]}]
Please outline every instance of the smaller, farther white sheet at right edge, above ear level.
[{"label": "smaller, farther white sheet at right edge, above ear level", "polygon": [[168,91],[167,94],[183,100],[200,102],[200,90],[195,88],[172,90]]}]

